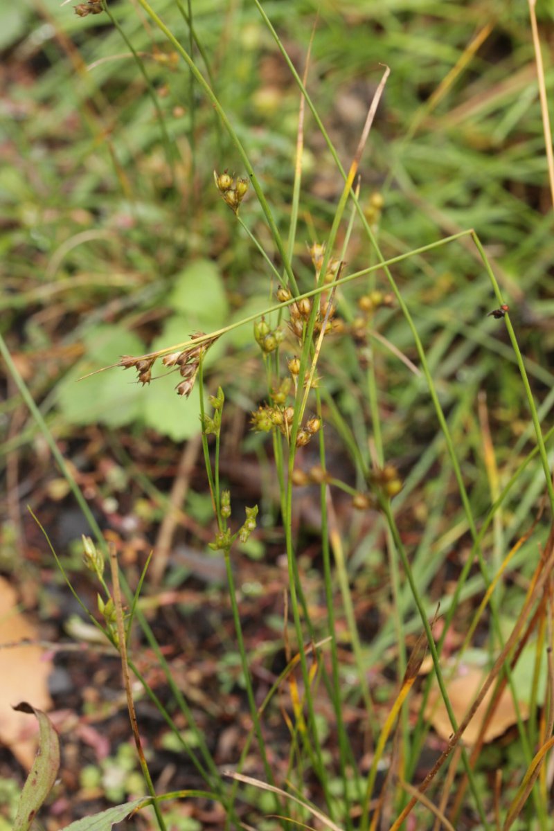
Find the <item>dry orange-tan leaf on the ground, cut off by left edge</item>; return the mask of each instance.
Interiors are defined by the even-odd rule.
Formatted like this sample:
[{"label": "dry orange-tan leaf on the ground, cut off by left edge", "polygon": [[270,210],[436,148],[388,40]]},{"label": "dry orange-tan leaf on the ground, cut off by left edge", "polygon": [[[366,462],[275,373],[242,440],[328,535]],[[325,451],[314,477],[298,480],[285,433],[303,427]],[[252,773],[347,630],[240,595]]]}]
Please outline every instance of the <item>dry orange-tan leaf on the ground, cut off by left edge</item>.
[{"label": "dry orange-tan leaf on the ground, cut off by left edge", "polygon": [[0,578],[0,741],[30,769],[37,750],[37,720],[13,711],[12,707],[20,701],[29,701],[42,711],[51,707],[47,683],[51,661],[44,658],[42,647],[2,646],[38,637],[27,617],[17,612],[16,607],[14,589]]}]

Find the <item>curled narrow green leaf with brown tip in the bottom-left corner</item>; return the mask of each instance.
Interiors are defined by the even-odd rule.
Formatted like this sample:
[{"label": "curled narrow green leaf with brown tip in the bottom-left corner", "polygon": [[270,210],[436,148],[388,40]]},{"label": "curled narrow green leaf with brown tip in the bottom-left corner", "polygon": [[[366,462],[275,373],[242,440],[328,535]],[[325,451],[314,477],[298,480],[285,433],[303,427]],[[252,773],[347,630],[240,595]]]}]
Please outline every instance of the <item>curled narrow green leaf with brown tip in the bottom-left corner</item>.
[{"label": "curled narrow green leaf with brown tip in the bottom-left corner", "polygon": [[22,713],[34,713],[39,727],[37,755],[23,785],[13,824],[13,831],[27,831],[56,781],[60,767],[60,743],[56,730],[46,713],[35,710],[26,701],[22,701],[13,709]]}]

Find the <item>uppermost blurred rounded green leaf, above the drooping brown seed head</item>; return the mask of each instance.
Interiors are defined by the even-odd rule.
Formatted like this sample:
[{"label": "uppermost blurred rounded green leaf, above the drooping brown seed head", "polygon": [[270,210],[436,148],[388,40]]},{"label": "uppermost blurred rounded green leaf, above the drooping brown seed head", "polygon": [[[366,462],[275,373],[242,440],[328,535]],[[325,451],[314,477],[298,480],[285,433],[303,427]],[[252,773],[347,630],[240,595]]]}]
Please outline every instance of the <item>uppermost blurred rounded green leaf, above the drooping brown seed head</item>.
[{"label": "uppermost blurred rounded green leaf, above the drooping brown seed head", "polygon": [[[211,260],[195,260],[175,276],[168,305],[184,312],[188,331],[218,329],[226,322],[228,302],[218,267]],[[182,338],[184,340],[184,338]]]}]

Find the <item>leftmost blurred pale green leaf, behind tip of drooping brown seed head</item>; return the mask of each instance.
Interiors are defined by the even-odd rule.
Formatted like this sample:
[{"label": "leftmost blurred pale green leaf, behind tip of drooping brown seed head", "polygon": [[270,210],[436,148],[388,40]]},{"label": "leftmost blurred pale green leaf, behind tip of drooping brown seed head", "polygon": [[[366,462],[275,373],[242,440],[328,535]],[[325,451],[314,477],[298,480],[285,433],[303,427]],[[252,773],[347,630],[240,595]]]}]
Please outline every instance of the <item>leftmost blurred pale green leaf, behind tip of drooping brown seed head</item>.
[{"label": "leftmost blurred pale green leaf, behind tip of drooping brown seed head", "polygon": [[83,381],[87,372],[109,366],[122,355],[140,355],[145,345],[132,332],[118,326],[96,327],[87,333],[86,357],[61,382],[57,403],[71,424],[107,424],[119,427],[140,418],[145,391],[131,368],[106,370]]}]

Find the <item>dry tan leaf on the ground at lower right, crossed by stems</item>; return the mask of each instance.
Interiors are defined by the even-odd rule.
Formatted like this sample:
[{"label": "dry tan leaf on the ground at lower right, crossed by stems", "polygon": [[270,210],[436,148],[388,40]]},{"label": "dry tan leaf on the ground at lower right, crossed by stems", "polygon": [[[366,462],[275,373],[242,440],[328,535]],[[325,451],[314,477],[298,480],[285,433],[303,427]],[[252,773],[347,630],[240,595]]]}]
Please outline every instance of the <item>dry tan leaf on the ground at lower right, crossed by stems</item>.
[{"label": "dry tan leaf on the ground at lower right, crossed by stems", "polygon": [[[468,707],[471,706],[473,699],[477,696],[481,686],[483,686],[484,678],[483,670],[476,667],[460,666],[458,676],[453,678],[452,681],[447,682],[446,689],[458,724],[463,720],[464,715],[468,711]],[[479,728],[487,711],[488,702],[493,696],[493,687],[494,685],[488,690],[473,719],[463,732],[462,740],[466,745],[474,745],[477,741]],[[527,706],[521,701],[519,702],[519,710],[522,718],[526,719],[528,715]],[[437,689],[432,690],[429,695],[429,701],[425,708],[425,718],[431,722],[442,739],[448,740],[449,736],[453,734],[449,714]],[[504,690],[494,711],[493,718],[489,721],[487,730],[485,730],[485,744],[497,739],[499,735],[503,735],[508,727],[514,725],[516,721],[517,717],[513,706],[512,694],[509,690]]]}]

